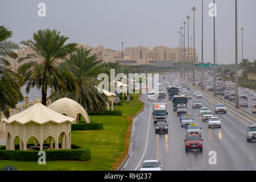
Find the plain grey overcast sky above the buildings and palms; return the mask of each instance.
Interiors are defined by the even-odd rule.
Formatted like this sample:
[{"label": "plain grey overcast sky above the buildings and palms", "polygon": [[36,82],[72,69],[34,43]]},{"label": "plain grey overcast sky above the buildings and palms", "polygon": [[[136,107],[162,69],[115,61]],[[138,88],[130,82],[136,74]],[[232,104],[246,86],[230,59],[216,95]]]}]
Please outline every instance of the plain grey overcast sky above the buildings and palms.
[{"label": "plain grey overcast sky above the buildings and palms", "polygon": [[[46,4],[46,17],[38,16],[38,4]],[[204,0],[204,61],[213,63],[213,18]],[[217,63],[234,63],[234,0],[216,0]],[[121,50],[125,47],[179,46],[179,28],[185,16],[189,20],[189,36],[193,35],[195,6],[196,50],[201,60],[201,0],[1,0],[0,24],[13,31],[13,40],[32,38],[39,29],[55,28],[68,36],[68,42],[104,46]],[[238,0],[238,63],[243,57],[253,60],[256,46],[256,1]],[[186,24],[187,47],[187,24]],[[191,39],[189,39],[191,41]],[[191,43],[189,43],[191,46]],[[256,50],[255,50],[256,51]]]}]

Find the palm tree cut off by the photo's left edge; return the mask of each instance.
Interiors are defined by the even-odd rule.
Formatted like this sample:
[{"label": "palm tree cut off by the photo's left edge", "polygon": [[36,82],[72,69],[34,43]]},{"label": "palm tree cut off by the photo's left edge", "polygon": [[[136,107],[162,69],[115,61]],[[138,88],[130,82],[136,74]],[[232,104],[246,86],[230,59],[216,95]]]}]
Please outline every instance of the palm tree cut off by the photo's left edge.
[{"label": "palm tree cut off by the photo's left edge", "polygon": [[23,95],[20,92],[20,85],[17,81],[16,74],[7,66],[10,62],[6,57],[16,59],[18,55],[13,51],[18,49],[18,44],[7,40],[13,35],[7,28],[0,26],[0,64],[3,64],[3,78],[0,80],[0,110],[5,114],[6,118],[10,117],[9,108],[14,109],[18,102],[23,101]]}]

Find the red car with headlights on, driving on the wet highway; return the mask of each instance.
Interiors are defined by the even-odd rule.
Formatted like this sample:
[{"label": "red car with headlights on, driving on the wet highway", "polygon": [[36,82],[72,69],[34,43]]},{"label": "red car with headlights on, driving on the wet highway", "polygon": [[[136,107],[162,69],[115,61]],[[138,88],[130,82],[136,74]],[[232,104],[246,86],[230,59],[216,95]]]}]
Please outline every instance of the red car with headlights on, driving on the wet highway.
[{"label": "red car with headlights on, driving on the wet highway", "polygon": [[185,141],[185,150],[200,149],[203,150],[203,143],[199,134],[188,134]]}]

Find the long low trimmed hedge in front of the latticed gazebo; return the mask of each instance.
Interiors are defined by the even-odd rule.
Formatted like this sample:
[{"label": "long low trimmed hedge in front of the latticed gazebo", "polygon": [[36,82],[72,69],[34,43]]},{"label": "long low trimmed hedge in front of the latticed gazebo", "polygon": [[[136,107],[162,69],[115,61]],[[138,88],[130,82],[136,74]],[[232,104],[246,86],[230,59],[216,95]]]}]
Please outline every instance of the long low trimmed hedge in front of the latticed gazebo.
[{"label": "long low trimmed hedge in front of the latticed gazebo", "polygon": [[[65,150],[44,150],[46,160],[89,160],[90,150],[65,149]],[[37,161],[39,151],[26,150],[0,150],[0,160]]]}]

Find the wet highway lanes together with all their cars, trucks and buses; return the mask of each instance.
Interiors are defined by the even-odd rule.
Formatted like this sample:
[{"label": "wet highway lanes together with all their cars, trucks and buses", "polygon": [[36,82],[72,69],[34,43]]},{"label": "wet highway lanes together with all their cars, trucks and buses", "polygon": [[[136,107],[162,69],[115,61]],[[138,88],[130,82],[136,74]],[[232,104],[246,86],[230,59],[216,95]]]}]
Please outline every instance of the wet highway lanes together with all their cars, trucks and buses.
[{"label": "wet highway lanes together with all their cars, trucks and buses", "polygon": [[[232,97],[228,84],[217,78],[214,98],[205,93],[213,92],[213,82],[202,91],[178,74],[160,76],[161,95],[150,90],[141,96],[145,108],[134,118],[130,156],[121,170],[255,170],[256,125],[220,102]],[[240,88],[239,94],[253,111],[253,93]]]}]

